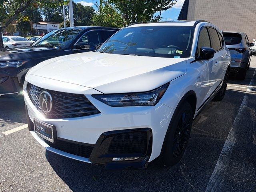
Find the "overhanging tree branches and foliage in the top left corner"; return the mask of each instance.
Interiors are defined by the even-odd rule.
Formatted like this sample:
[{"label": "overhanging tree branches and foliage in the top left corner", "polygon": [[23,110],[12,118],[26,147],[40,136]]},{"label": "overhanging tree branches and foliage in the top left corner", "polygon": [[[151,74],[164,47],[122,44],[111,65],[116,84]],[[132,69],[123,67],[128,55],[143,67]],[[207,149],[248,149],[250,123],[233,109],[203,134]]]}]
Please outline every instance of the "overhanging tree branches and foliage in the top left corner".
[{"label": "overhanging tree branches and foliage in the top left corner", "polygon": [[66,4],[69,0],[0,0],[0,21],[5,24],[0,27],[0,48],[4,47],[2,41],[2,31],[9,26],[19,14],[30,7],[56,7]]}]

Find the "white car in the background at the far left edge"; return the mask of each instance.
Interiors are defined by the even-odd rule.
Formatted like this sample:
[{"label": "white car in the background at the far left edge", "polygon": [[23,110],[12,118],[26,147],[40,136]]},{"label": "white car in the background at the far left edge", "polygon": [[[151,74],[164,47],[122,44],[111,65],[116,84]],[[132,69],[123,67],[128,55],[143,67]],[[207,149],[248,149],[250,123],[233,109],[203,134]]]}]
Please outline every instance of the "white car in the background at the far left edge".
[{"label": "white car in the background at the far left edge", "polygon": [[20,36],[2,36],[4,48],[30,46],[33,42]]}]

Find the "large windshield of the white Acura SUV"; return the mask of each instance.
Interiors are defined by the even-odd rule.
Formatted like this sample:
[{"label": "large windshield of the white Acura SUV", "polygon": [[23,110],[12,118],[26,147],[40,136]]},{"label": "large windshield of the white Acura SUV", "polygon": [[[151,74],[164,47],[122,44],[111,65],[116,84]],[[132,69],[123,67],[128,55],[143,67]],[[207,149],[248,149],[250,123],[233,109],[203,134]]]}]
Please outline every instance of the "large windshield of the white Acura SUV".
[{"label": "large windshield of the white Acura SUV", "polygon": [[120,30],[97,52],[152,57],[190,57],[194,27],[140,26]]}]

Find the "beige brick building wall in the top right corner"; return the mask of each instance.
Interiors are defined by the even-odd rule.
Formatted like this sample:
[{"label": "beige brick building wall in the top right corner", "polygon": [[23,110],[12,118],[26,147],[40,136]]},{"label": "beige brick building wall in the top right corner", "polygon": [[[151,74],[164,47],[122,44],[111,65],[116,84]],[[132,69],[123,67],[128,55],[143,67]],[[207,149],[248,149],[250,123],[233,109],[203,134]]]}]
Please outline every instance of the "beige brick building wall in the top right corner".
[{"label": "beige brick building wall in the top right corner", "polygon": [[187,21],[206,20],[223,31],[256,39],[256,0],[189,0]]}]

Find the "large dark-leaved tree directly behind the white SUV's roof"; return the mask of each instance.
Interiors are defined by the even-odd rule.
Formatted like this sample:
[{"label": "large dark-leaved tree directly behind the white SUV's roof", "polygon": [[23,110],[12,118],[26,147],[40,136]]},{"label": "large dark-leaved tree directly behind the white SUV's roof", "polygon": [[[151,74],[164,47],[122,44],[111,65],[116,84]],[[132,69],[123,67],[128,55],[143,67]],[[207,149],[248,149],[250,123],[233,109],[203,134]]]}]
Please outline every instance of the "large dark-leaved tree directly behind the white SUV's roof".
[{"label": "large dark-leaved tree directly behind the white SUV's roof", "polygon": [[[126,25],[135,22],[156,22],[161,19],[163,10],[176,4],[176,0],[107,0],[117,8]],[[155,16],[155,14],[158,14]]]}]

